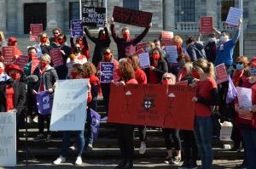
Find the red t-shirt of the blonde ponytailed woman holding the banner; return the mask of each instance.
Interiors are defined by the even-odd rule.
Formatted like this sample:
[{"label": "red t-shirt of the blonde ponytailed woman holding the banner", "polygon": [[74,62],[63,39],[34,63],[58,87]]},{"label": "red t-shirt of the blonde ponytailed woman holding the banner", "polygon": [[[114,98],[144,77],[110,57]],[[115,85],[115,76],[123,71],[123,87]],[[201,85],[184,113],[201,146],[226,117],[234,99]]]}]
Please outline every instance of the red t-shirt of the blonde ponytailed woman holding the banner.
[{"label": "red t-shirt of the blonde ponytailed woman holding the banner", "polygon": [[[196,97],[203,99],[211,99],[211,91],[217,88],[217,83],[212,77],[208,77],[205,81],[196,83]],[[195,103],[195,115],[197,116],[210,116],[212,114],[211,107],[206,104]]]}]

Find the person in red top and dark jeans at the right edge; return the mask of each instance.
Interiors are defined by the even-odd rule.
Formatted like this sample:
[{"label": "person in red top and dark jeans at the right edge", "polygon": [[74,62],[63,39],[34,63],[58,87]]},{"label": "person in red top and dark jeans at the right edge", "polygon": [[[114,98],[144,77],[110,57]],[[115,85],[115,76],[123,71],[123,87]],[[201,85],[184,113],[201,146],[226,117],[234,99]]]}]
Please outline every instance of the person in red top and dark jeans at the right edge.
[{"label": "person in red top and dark jeans at the right edge", "polygon": [[252,108],[240,106],[239,100],[235,104],[237,116],[236,124],[241,129],[244,142],[245,161],[248,169],[256,168],[256,57],[250,62],[250,76],[244,78],[241,87],[251,88]]}]

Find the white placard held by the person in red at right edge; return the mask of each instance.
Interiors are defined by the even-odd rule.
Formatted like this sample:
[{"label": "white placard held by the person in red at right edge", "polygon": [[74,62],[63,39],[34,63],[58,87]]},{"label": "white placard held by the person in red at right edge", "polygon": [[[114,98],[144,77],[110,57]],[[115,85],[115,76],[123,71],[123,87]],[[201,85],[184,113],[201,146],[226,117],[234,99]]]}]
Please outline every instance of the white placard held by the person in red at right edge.
[{"label": "white placard held by the person in red at right edge", "polygon": [[236,87],[238,104],[240,108],[251,110],[252,103],[252,89],[245,87]]}]

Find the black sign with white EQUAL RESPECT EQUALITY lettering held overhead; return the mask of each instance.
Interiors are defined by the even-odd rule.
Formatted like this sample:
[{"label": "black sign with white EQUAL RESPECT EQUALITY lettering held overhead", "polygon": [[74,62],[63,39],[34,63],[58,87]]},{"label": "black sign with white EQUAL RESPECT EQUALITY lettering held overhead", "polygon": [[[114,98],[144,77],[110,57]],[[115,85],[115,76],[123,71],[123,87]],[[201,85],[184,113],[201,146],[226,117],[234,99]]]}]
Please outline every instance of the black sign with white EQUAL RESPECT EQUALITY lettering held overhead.
[{"label": "black sign with white EQUAL RESPECT EQUALITY lettering held overhead", "polygon": [[106,19],[106,8],[83,7],[83,25],[93,27],[104,27]]}]

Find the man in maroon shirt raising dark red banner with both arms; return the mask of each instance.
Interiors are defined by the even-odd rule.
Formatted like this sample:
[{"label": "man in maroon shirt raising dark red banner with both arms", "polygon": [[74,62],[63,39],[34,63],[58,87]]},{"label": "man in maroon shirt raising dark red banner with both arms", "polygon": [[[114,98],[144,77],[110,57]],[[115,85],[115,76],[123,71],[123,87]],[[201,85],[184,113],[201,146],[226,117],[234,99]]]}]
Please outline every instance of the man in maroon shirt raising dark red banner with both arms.
[{"label": "man in maroon shirt raising dark red banner with both arms", "polygon": [[143,38],[147,35],[149,28],[152,26],[152,23],[145,28],[145,30],[136,38],[131,38],[130,30],[128,27],[122,29],[122,36],[119,37],[116,33],[113,17],[111,18],[111,32],[113,41],[117,44],[118,48],[118,60],[126,58],[127,56],[134,54],[136,52],[137,43],[141,42]]}]

